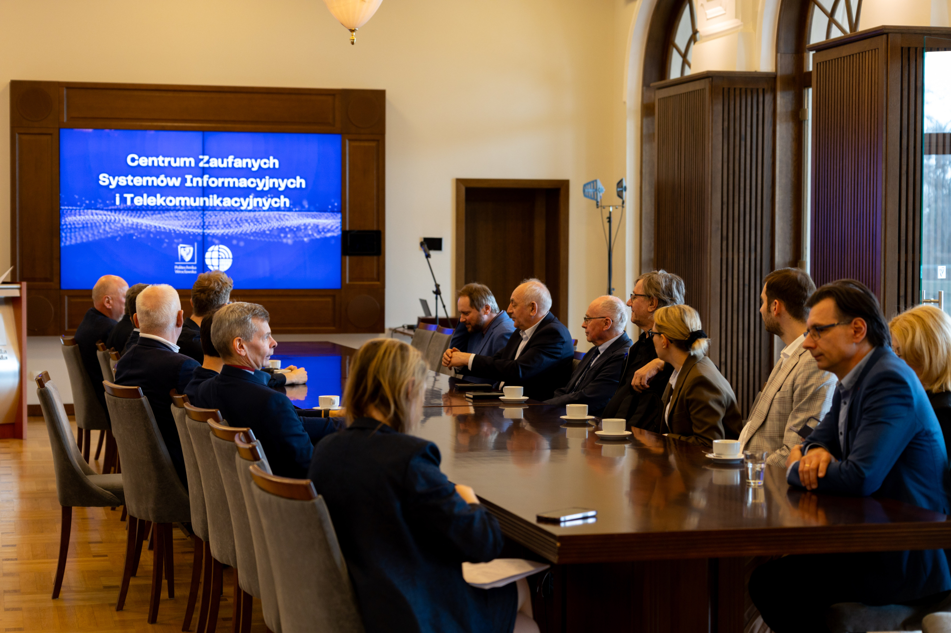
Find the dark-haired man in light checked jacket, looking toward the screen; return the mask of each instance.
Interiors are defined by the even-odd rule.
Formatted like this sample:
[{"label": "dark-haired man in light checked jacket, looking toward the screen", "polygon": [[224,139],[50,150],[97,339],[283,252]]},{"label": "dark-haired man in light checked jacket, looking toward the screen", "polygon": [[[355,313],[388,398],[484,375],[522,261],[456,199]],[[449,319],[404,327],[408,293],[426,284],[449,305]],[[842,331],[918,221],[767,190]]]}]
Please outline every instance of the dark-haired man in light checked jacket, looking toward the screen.
[{"label": "dark-haired man in light checked jacket, looking toward the screen", "polygon": [[786,466],[789,451],[803,441],[801,433],[815,428],[832,406],[836,377],[819,369],[803,347],[805,301],[815,290],[799,268],[775,270],[763,284],[760,315],[767,332],[779,336],[786,348],[753,402],[740,446],[744,451],[769,451],[767,464]]}]

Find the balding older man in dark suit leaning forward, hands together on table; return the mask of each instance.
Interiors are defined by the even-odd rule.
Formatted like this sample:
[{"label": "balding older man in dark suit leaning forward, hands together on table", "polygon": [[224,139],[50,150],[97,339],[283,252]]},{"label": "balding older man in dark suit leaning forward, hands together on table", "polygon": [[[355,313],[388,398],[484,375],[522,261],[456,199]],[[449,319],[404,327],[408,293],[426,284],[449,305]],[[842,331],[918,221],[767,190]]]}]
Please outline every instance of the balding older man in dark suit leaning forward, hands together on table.
[{"label": "balding older man in dark suit leaning forward, hands together on table", "polygon": [[552,295],[545,284],[526,279],[512,293],[508,312],[516,329],[505,347],[492,356],[454,352],[444,355],[442,364],[498,381],[499,388],[522,387],[535,400],[553,397],[572,376],[574,347],[568,328],[551,309]]}]

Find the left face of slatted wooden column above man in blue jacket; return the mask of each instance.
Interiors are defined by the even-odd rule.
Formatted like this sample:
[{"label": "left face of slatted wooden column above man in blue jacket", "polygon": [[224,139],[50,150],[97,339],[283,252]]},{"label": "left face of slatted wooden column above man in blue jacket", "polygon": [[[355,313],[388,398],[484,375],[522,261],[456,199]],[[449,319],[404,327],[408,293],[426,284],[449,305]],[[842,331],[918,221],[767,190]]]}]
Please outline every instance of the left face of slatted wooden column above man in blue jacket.
[{"label": "left face of slatted wooden column above man in blue jacket", "polygon": [[876,48],[813,71],[812,278],[882,290],[883,106]]}]

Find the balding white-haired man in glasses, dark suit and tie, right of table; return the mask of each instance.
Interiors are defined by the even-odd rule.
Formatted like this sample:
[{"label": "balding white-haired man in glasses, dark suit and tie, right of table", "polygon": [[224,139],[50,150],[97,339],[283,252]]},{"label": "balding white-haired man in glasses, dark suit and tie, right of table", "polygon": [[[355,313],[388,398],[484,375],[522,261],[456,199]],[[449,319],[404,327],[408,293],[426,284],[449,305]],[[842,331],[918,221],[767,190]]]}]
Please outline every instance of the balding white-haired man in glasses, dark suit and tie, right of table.
[{"label": "balding white-haired man in glasses, dark suit and tie, right of table", "polygon": [[586,404],[588,412],[600,415],[617,390],[621,368],[631,347],[624,331],[628,324],[624,302],[617,297],[597,297],[583,320],[585,337],[592,349],[574,368],[568,384],[557,389],[547,404]]}]

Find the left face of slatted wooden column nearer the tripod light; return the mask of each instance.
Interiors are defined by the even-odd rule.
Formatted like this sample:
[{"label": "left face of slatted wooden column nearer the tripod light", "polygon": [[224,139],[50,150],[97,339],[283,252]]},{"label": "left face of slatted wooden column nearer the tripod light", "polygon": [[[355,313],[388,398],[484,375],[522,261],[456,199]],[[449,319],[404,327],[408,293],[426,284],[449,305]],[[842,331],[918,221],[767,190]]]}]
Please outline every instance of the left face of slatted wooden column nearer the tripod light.
[{"label": "left face of slatted wooden column nearer the tripod light", "polygon": [[657,100],[654,262],[687,286],[687,303],[709,317],[709,88]]}]

